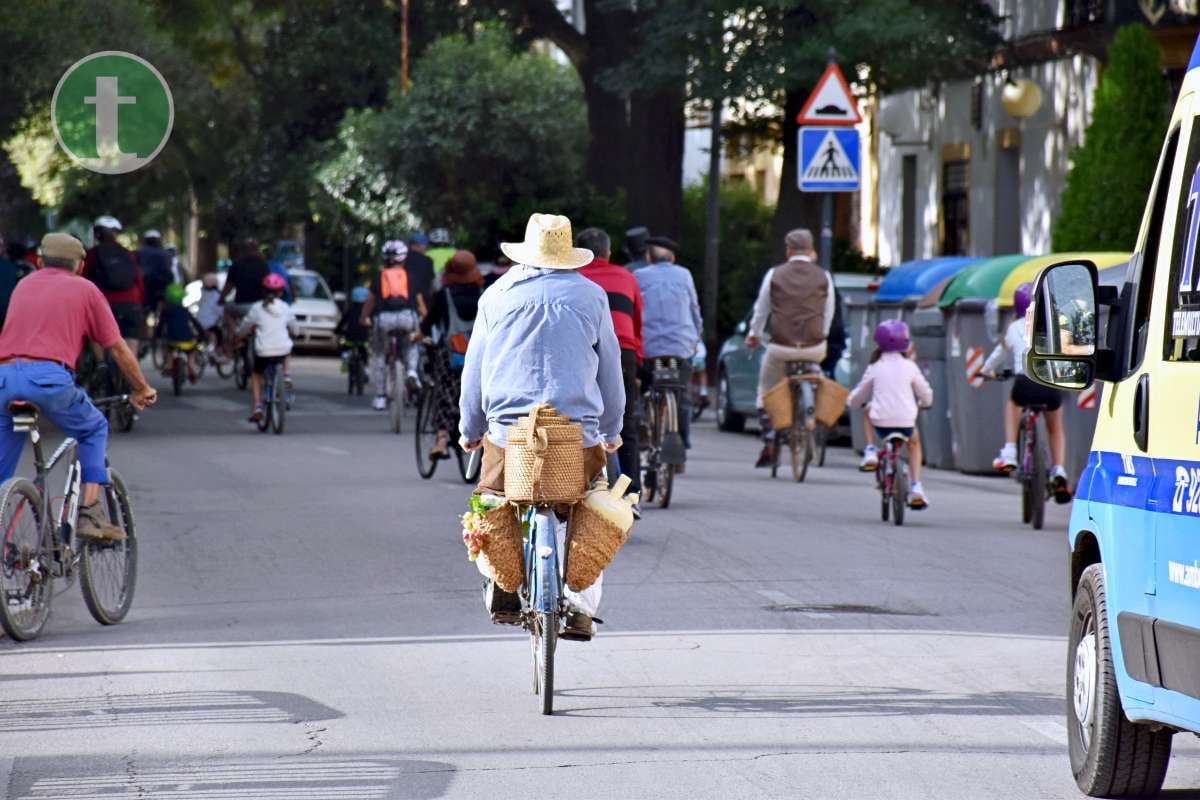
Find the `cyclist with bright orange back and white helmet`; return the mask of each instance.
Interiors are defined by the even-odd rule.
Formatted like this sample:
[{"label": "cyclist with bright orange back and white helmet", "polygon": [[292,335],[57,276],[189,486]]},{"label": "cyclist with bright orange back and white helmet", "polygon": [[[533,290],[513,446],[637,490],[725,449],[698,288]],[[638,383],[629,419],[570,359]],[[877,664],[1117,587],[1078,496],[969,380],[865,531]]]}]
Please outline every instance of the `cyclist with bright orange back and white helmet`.
[{"label": "cyclist with bright orange back and white helmet", "polygon": [[[416,317],[416,302],[408,284],[408,271],[404,270],[404,258],[408,247],[404,242],[391,240],[383,246],[383,269],[371,282],[367,300],[362,303],[361,321],[372,327],[371,333],[371,372],[376,381],[376,397],[372,408],[382,411],[388,408],[388,368],[386,354],[392,331],[412,333],[420,321]],[[404,362],[404,383],[410,391],[420,386],[416,374],[416,348],[409,347],[408,336],[400,337],[400,351]]]}]

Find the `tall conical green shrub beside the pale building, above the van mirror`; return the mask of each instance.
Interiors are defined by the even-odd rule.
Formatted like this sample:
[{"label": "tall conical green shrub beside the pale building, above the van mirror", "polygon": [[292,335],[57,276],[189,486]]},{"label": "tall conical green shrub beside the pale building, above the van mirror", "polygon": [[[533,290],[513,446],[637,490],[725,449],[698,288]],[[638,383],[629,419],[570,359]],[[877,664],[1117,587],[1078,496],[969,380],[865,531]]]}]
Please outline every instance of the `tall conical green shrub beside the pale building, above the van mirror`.
[{"label": "tall conical green shrub beside the pale building, above the van mirror", "polygon": [[1072,154],[1054,248],[1132,249],[1166,133],[1158,43],[1142,25],[1117,31],[1084,144]]}]

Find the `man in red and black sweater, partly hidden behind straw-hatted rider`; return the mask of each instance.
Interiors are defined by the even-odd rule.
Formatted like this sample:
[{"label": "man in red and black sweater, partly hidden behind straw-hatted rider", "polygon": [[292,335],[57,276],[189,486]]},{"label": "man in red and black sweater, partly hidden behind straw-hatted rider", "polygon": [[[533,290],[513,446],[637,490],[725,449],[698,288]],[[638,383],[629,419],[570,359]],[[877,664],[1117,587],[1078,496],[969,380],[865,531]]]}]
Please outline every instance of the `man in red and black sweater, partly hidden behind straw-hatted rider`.
[{"label": "man in red and black sweater, partly hidden behind straw-hatted rider", "polygon": [[[642,291],[634,273],[611,264],[612,241],[599,228],[587,228],[575,237],[577,247],[595,253],[595,259],[580,270],[580,275],[600,284],[608,294],[612,326],[620,343],[620,372],[625,379],[625,419],[620,431],[617,459],[623,475],[631,479],[630,491],[642,491],[642,470],[637,451],[638,399],[637,367],[642,362]],[[611,476],[616,480],[616,475]],[[636,509],[635,509],[636,510]]]}]

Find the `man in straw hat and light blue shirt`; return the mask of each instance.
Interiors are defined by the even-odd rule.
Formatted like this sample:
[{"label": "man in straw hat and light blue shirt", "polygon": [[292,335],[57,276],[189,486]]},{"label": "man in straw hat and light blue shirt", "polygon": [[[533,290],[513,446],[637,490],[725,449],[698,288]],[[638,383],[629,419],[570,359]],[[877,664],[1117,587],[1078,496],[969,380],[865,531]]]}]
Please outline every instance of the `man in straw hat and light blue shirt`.
[{"label": "man in straw hat and light blue shirt", "polygon": [[[620,446],[620,345],[604,289],[577,272],[592,251],[571,243],[570,219],[533,215],[523,242],[500,245],[515,266],[479,301],[460,398],[463,447],[484,449],[476,492],[504,493],[508,426],[541,403],[583,428],[589,480]],[[488,599],[493,614],[521,607],[494,585]],[[566,626],[578,638],[593,632],[582,612]]]}]

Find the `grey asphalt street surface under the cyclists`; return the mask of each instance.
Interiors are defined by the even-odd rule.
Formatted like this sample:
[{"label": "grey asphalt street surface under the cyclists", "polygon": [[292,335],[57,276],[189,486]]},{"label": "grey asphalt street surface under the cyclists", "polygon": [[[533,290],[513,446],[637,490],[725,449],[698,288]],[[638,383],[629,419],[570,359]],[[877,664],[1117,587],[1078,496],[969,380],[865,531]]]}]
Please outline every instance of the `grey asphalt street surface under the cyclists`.
[{"label": "grey asphalt street surface under the cyclists", "polygon": [[[709,417],[542,717],[452,464],[420,480],[336,361],[295,373],[282,437],[212,374],[114,434],[134,607],[102,628],[72,587],[40,640],[0,639],[7,798],[1081,796],[1064,509],[1033,531],[1015,483],[931,473],[931,507],[884,525],[848,451],[772,481]],[[1198,745],[1166,796],[1200,798]]]}]

